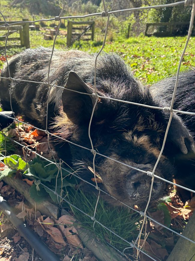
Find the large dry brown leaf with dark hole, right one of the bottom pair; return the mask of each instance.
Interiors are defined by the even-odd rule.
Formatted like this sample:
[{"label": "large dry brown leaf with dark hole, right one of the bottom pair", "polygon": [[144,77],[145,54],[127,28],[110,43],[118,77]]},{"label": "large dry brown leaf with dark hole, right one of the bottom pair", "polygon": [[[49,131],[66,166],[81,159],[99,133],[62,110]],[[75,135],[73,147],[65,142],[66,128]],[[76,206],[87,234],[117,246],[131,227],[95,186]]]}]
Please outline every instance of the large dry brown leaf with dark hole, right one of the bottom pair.
[{"label": "large dry brown leaf with dark hole, right one of the bottom pair", "polygon": [[61,229],[62,233],[65,235],[69,244],[75,247],[83,248],[81,240],[77,235],[78,234],[77,230],[73,226],[75,221],[76,220],[73,219],[73,217],[69,215],[63,215],[58,220],[56,220],[56,223],[64,224],[64,225],[60,225],[59,228]]}]

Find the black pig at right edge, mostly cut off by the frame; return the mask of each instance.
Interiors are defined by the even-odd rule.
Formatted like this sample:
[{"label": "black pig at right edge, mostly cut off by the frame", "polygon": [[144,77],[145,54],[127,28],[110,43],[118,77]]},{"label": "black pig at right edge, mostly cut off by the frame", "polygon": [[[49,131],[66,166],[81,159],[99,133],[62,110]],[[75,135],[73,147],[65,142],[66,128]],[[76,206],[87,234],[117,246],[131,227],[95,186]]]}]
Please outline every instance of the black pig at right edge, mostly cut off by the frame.
[{"label": "black pig at right edge, mostly cut off by the frame", "polygon": [[[152,95],[161,100],[163,98],[167,104],[170,104],[175,82],[176,76],[152,85]],[[173,108],[176,110],[195,112],[195,69],[180,74]],[[179,114],[179,116],[194,137],[195,115]],[[174,165],[176,168],[174,178],[176,179],[176,183],[195,190],[195,153],[189,151],[187,154],[182,154],[180,151],[173,151],[173,149],[174,148],[170,148],[169,158],[172,155],[174,156]],[[184,194],[184,191],[181,191],[179,188],[177,188],[177,190],[182,193],[183,197],[186,197],[186,200],[189,199],[189,195],[186,194],[186,191]]]}]

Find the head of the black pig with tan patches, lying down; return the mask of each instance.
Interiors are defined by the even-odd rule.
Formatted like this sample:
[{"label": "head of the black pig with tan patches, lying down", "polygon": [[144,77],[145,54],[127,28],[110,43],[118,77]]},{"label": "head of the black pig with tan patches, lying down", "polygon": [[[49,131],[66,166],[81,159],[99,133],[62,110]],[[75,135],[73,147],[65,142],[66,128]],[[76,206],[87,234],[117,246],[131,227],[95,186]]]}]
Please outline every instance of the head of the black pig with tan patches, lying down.
[{"label": "head of the black pig with tan patches, lying down", "polygon": [[[56,126],[63,138],[91,149],[88,126],[96,98],[88,94],[94,92],[93,88],[74,72],[69,73],[66,88],[62,93],[62,110],[61,115],[56,118]],[[135,80],[133,83],[128,80],[99,80],[97,90],[105,98],[98,98],[90,134],[94,150],[106,156],[96,154],[95,157],[95,170],[102,179],[102,183],[98,185],[125,204],[140,205],[149,197],[152,180],[144,171],[152,172],[155,166],[162,148],[167,120],[161,110],[106,98],[158,106],[149,89]],[[167,147],[170,146],[171,139],[168,136]],[[94,175],[91,172],[93,154],[90,150],[71,144],[70,150],[72,163],[81,169],[79,175],[91,182]],[[173,165],[166,154],[162,155],[155,175],[171,181],[173,172]],[[166,194],[167,188],[168,183],[155,178],[151,200],[160,199]]]}]

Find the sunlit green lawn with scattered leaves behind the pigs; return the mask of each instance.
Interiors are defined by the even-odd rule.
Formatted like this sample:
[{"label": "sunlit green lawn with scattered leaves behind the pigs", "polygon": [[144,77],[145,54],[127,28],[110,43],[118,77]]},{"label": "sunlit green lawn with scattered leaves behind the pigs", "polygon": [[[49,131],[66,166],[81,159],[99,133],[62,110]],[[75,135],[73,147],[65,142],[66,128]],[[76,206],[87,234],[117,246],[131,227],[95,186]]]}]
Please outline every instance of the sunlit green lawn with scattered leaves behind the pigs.
[{"label": "sunlit green lawn with scattered leaves behind the pigs", "polygon": [[[44,31],[30,31],[31,48],[38,46],[52,47],[52,40],[44,40]],[[186,37],[131,37],[125,39],[117,37],[114,42],[106,42],[104,51],[115,52],[119,54],[125,63],[133,70],[135,76],[147,84],[152,84],[166,77],[176,74],[182,50]],[[0,45],[2,42],[0,42]],[[102,41],[75,42],[74,49],[98,52]],[[64,49],[66,47],[66,38],[63,35],[57,37],[55,48]],[[7,50],[7,55],[11,56],[19,51],[20,48],[11,48]],[[0,51],[3,55],[4,51]],[[189,45],[182,62],[182,70],[195,66],[195,37],[191,37]],[[3,62],[0,61],[2,67]]]}]

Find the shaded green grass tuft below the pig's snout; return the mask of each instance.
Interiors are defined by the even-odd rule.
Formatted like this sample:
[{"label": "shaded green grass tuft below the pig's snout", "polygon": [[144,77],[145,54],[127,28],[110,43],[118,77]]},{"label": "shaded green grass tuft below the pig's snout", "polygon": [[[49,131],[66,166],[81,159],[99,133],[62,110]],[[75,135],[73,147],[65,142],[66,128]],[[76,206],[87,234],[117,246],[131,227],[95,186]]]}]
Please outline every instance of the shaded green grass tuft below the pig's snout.
[{"label": "shaded green grass tuft below the pig's snout", "polygon": [[[97,195],[94,193],[86,193],[85,190],[67,190],[66,200],[71,202],[75,207],[81,209],[89,216],[94,216],[95,205],[97,202]],[[103,193],[103,192],[101,192]],[[109,242],[112,246],[123,250],[128,247],[129,244],[123,241],[121,238],[108,231],[106,228],[91,220],[90,217],[84,215],[82,212],[77,210],[75,207],[70,207],[68,204],[64,204],[64,207],[70,209],[75,218],[82,222],[83,227],[90,231],[93,231],[97,235],[98,239],[103,242]],[[98,201],[95,218],[104,226],[120,235],[125,240],[131,242],[135,240],[139,233],[140,227],[140,215],[134,211],[130,211],[123,207],[112,207],[107,204],[101,197]]]}]

